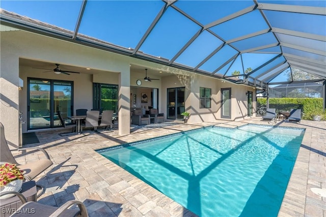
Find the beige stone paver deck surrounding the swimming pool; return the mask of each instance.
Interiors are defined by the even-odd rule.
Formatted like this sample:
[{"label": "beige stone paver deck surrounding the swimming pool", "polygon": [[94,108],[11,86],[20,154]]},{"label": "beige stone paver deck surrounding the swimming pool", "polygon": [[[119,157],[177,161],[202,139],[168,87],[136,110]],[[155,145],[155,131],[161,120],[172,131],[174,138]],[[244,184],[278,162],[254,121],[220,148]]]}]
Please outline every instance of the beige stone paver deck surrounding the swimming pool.
[{"label": "beige stone paver deck surrounding the swimming pool", "polygon": [[[68,200],[80,200],[90,216],[196,216],[94,150],[205,126],[236,128],[247,123],[270,124],[261,118],[194,125],[175,122],[161,128],[131,127],[132,133],[126,136],[119,136],[117,130],[100,130],[100,134],[84,131],[81,135],[65,137],[58,135],[65,130],[37,132],[40,143],[26,147],[45,148],[53,161],[36,178],[37,183],[46,187],[38,202],[60,206]],[[310,190],[326,188],[326,121],[278,121],[273,125],[306,129],[279,216],[326,217],[326,198]],[[18,163],[26,162],[24,156],[16,155]],[[42,158],[37,152],[32,156],[27,161]]]}]

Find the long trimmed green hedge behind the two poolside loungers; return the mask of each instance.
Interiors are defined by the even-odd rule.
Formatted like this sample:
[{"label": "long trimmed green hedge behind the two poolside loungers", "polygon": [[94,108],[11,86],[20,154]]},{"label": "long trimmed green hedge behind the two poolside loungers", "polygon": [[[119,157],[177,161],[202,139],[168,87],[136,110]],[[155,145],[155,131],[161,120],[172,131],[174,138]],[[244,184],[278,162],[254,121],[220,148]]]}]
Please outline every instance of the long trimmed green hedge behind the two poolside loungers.
[{"label": "long trimmed green hedge behind the two poolside loungers", "polygon": [[[257,107],[265,107],[266,101],[266,98],[257,98]],[[277,112],[301,109],[302,119],[312,120],[314,115],[321,115],[322,120],[326,120],[322,98],[269,98],[269,108],[276,108]]]}]

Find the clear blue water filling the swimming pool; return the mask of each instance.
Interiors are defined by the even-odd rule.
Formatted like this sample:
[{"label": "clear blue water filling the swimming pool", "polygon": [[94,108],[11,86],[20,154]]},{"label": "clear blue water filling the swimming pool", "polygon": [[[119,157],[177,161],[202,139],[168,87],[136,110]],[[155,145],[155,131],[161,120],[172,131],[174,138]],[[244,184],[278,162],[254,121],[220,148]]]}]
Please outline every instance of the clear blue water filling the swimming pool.
[{"label": "clear blue water filling the swimming pool", "polygon": [[210,127],[97,151],[200,216],[277,216],[303,135]]}]

